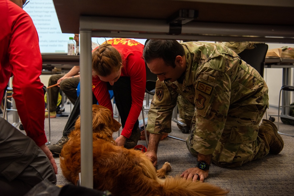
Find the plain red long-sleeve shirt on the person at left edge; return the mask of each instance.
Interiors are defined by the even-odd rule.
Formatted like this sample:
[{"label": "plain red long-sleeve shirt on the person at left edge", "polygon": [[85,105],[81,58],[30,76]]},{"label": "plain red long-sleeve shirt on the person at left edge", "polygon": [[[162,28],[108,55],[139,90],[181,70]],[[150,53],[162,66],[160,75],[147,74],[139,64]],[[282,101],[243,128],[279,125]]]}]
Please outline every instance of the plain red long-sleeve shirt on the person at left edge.
[{"label": "plain red long-sleeve shirt on the person at left edge", "polygon": [[0,0],[0,19],[0,97],[14,76],[13,98],[21,123],[27,136],[41,146],[47,139],[38,34],[31,17],[9,0]]}]

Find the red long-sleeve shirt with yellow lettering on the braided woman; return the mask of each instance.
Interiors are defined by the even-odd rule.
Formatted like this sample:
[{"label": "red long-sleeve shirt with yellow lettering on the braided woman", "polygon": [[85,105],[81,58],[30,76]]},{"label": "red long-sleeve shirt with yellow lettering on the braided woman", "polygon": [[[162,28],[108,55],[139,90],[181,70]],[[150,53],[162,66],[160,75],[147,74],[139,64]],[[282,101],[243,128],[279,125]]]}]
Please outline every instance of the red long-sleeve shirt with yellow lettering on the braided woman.
[{"label": "red long-sleeve shirt with yellow lettering on the braided woman", "polygon": [[[122,56],[123,68],[120,76],[131,78],[132,106],[121,133],[121,135],[129,138],[134,124],[142,111],[145,94],[146,69],[142,58],[144,45],[126,38],[110,39],[107,43],[116,48]],[[98,76],[92,78],[92,83],[92,90],[99,105],[103,105],[113,111],[107,83],[101,81]]]}]

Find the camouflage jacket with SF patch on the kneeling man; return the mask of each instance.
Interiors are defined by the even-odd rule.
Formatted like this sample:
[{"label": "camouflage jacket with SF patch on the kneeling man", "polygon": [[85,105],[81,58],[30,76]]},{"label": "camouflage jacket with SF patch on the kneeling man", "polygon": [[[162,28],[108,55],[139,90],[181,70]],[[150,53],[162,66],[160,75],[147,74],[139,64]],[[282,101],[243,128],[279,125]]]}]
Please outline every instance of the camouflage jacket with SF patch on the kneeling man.
[{"label": "camouflage jacket with SF patch on the kneeling man", "polygon": [[268,105],[268,89],[258,71],[232,50],[215,43],[185,42],[182,45],[187,65],[183,83],[157,80],[147,130],[171,132],[172,111],[180,94],[196,108],[193,121],[197,145],[193,148],[202,154],[212,154],[230,109]]}]

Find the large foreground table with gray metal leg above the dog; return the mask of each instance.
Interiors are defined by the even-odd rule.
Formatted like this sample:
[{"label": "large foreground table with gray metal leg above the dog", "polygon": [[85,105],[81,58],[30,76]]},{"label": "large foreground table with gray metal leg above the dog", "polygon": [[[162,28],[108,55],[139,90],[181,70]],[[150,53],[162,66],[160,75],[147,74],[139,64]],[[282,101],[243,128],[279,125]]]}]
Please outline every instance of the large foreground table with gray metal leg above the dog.
[{"label": "large foreground table with gray metal leg above the dog", "polygon": [[[89,188],[93,187],[91,37],[294,43],[292,0],[85,0],[82,3],[53,0],[53,3],[62,33],[80,33],[81,185]],[[176,33],[172,33],[175,30],[172,19],[176,17],[170,17],[187,8],[197,10],[197,16],[177,26]],[[224,14],[225,10],[230,11]]]}]

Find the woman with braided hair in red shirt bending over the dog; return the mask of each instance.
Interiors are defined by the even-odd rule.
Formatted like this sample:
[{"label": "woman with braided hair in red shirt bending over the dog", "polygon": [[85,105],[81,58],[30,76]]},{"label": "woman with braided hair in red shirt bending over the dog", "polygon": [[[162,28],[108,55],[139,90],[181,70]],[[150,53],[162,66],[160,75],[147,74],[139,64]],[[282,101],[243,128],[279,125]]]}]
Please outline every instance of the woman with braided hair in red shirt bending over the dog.
[{"label": "woman with braided hair in red shirt bending over the dog", "polygon": [[[92,51],[93,104],[98,103],[113,111],[108,90],[113,90],[122,123],[117,145],[134,148],[140,138],[138,117],[142,110],[146,69],[142,58],[144,45],[128,38],[113,38]],[[48,148],[60,154],[67,135],[80,114],[79,97],[63,130],[63,137]]]}]

